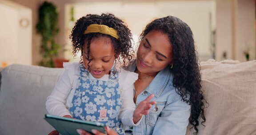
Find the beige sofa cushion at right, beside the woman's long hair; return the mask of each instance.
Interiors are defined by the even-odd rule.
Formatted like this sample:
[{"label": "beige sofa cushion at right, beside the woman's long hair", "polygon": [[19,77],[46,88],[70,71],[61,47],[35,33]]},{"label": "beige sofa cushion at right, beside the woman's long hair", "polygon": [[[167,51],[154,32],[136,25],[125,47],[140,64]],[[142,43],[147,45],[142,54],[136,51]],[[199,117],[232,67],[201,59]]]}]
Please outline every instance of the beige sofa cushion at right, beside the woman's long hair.
[{"label": "beige sofa cushion at right, beside the woman's long hair", "polygon": [[198,135],[256,135],[256,60],[208,60],[201,72],[209,105]]}]

